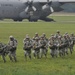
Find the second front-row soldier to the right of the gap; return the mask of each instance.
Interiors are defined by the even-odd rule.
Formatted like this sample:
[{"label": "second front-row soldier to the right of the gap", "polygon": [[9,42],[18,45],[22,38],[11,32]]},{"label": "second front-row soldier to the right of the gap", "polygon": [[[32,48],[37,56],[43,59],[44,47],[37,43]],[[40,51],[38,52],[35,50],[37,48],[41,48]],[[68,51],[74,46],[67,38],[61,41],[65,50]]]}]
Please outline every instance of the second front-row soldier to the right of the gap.
[{"label": "second front-row soldier to the right of the gap", "polygon": [[35,38],[35,41],[33,43],[33,50],[34,50],[34,52],[33,52],[34,57],[35,58],[37,57],[39,59],[40,43],[39,43],[39,38],[38,37]]}]

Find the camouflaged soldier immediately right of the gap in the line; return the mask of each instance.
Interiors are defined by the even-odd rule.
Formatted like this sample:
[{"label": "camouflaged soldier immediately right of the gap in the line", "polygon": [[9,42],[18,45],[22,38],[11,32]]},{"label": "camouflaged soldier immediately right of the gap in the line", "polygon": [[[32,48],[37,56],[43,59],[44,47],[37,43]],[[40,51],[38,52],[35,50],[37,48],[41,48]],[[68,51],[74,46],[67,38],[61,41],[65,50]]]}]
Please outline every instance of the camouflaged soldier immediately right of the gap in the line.
[{"label": "camouflaged soldier immediately right of the gap in the line", "polygon": [[29,38],[28,35],[26,35],[26,38],[23,40],[24,47],[23,49],[25,50],[25,58],[27,59],[27,56],[31,59],[31,48],[32,48],[32,41]]}]

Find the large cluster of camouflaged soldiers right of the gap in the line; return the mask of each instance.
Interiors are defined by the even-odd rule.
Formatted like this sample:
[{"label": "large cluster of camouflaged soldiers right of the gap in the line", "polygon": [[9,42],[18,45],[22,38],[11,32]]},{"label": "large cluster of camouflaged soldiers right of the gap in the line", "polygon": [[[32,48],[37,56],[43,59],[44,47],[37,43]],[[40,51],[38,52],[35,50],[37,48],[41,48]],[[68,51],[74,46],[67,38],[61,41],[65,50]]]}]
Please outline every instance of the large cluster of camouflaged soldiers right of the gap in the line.
[{"label": "large cluster of camouflaged soldiers right of the gap in the line", "polygon": [[26,35],[23,44],[26,59],[27,56],[31,59],[31,52],[35,58],[42,58],[43,55],[47,57],[48,48],[52,57],[57,57],[58,54],[59,56],[65,56],[66,54],[68,55],[68,50],[70,50],[71,54],[74,51],[75,35],[73,33],[71,35],[65,33],[62,36],[58,30],[55,35],[52,34],[48,39],[45,33],[42,36],[35,33],[33,39]]}]

